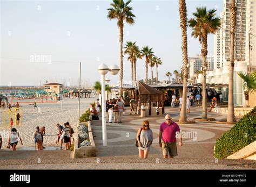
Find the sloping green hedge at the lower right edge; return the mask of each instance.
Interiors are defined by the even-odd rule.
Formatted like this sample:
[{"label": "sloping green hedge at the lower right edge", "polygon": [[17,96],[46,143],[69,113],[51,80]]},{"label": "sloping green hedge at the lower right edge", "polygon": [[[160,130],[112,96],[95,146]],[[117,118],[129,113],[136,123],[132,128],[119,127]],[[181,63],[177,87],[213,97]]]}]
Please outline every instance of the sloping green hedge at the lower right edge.
[{"label": "sloping green hedge at the lower right edge", "polygon": [[216,142],[214,156],[224,159],[256,140],[256,106]]}]

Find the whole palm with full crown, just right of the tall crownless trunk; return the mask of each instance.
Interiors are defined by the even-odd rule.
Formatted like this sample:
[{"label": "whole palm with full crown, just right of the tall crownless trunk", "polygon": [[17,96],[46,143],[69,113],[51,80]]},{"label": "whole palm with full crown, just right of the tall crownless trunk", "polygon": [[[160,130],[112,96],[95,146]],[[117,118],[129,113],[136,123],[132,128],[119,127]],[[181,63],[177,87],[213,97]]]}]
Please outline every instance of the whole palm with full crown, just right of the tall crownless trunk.
[{"label": "whole palm with full crown, just right of the tall crownless trunk", "polygon": [[216,17],[216,9],[206,10],[206,7],[196,8],[193,13],[194,18],[188,20],[188,25],[192,28],[192,37],[199,38],[202,44],[201,55],[203,57],[203,115],[202,119],[207,119],[207,100],[206,100],[206,56],[207,56],[207,35],[215,34],[220,29],[220,18]]}]

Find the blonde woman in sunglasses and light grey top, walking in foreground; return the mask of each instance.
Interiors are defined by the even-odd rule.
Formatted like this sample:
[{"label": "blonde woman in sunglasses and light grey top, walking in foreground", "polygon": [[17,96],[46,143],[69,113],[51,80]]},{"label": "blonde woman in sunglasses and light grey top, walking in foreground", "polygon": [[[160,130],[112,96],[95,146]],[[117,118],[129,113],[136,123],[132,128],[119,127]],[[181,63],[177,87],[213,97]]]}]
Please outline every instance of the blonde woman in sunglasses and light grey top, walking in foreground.
[{"label": "blonde woman in sunglasses and light grey top, walking in foreground", "polygon": [[143,121],[142,128],[139,128],[136,139],[139,144],[139,157],[146,159],[153,142],[153,132],[150,129],[148,120]]}]

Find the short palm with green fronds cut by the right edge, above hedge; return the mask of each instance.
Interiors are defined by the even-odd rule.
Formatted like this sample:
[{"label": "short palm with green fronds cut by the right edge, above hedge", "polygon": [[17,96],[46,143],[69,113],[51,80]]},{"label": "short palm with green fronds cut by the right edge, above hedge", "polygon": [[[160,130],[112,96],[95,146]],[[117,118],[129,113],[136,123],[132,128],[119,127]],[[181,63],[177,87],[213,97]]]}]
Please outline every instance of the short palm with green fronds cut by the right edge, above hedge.
[{"label": "short palm with green fronds cut by the right edge, above hedge", "polygon": [[244,81],[242,86],[244,87],[244,90],[245,90],[244,94],[245,94],[246,105],[248,105],[249,92],[251,93],[256,92],[256,71],[254,71],[252,74],[247,74],[240,71],[237,74]]}]

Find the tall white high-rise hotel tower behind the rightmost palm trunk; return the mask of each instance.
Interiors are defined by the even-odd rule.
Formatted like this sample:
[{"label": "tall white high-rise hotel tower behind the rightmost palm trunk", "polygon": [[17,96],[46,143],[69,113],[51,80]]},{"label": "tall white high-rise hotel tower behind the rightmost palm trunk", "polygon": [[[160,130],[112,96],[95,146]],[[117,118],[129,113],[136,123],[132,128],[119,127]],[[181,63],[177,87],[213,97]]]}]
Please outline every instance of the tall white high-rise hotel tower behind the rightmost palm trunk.
[{"label": "tall white high-rise hotel tower behind the rightmost palm trunk", "polygon": [[[228,84],[228,65],[230,63],[230,3],[224,0],[220,13],[221,28],[214,35],[214,79],[215,83]],[[234,39],[234,104],[244,105],[245,98],[242,80],[237,72],[256,70],[256,0],[235,0],[237,23]],[[250,38],[249,38],[250,35]],[[250,42],[250,45],[249,45]],[[223,88],[227,93],[227,88]]]}]

